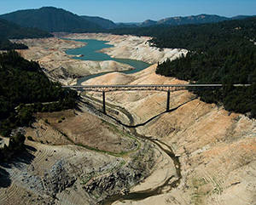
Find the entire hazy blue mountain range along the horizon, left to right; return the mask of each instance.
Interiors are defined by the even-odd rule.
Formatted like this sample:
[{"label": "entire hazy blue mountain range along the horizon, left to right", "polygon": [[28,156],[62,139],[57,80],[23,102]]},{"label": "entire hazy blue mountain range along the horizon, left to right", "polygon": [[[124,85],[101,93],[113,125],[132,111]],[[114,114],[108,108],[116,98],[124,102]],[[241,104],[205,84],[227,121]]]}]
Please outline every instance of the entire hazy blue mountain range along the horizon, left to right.
[{"label": "entire hazy blue mountain range along the horizon, left to right", "polygon": [[140,24],[115,24],[97,16],[73,14],[65,9],[43,7],[40,9],[18,10],[9,14],[2,14],[0,18],[12,21],[20,26],[38,28],[49,32],[100,32],[114,28],[137,28],[147,26],[178,26],[184,24],[216,23],[224,20],[240,20],[246,15],[237,15],[232,18],[215,14],[199,14],[190,16],[170,17],[162,20],[145,20]]}]

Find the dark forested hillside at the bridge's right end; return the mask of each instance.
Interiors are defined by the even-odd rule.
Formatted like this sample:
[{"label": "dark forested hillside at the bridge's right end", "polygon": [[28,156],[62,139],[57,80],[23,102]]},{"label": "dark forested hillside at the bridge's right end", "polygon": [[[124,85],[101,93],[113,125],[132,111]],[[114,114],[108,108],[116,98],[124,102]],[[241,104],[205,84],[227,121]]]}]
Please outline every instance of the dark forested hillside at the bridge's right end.
[{"label": "dark forested hillside at the bridge's right end", "polygon": [[[166,60],[156,73],[196,83],[223,83],[218,91],[197,92],[201,100],[221,103],[230,111],[256,117],[256,18],[228,20],[212,24],[151,26],[114,29],[114,34],[154,37],[158,48],[187,48],[189,54]],[[233,88],[233,83],[251,87]]]}]

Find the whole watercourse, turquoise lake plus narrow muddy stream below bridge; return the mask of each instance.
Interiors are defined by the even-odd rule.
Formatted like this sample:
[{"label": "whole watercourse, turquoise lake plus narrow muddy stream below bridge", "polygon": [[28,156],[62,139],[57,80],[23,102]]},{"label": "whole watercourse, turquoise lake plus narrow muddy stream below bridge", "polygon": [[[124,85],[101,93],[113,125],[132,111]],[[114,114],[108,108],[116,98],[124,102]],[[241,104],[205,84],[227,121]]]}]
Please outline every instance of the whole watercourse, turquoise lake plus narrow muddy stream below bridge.
[{"label": "whole watercourse, turquoise lake plus narrow muddy stream below bridge", "polygon": [[[67,39],[67,40],[71,40],[71,39]],[[72,40],[74,40],[74,39],[72,39]],[[138,72],[138,71],[143,71],[143,69],[150,66],[150,64],[145,63],[143,61],[129,60],[129,59],[113,59],[108,54],[102,54],[102,53],[96,52],[98,50],[101,50],[102,48],[111,48],[111,47],[113,47],[113,45],[106,44],[106,43],[108,43],[106,41],[98,41],[98,40],[92,40],[92,39],[86,39],[86,40],[79,39],[79,40],[74,40],[74,41],[88,43],[85,47],[68,49],[66,51],[67,54],[73,54],[73,55],[83,54],[83,56],[81,56],[81,57],[73,57],[74,59],[77,59],[77,60],[115,60],[115,61],[118,61],[120,63],[128,64],[128,65],[131,65],[131,66],[135,67],[135,70],[119,71],[119,72],[123,72],[125,74],[131,74],[131,73],[135,73],[135,72]],[[98,74],[94,74],[94,75],[90,75],[90,76],[86,76],[86,77],[80,77],[77,81],[77,85],[81,85],[81,83],[83,83],[84,81],[89,80],[90,78],[100,77],[100,76],[102,76],[106,73],[107,72],[98,73]],[[94,99],[94,100],[96,100],[96,99]],[[181,176],[180,162],[178,160],[178,157],[175,157],[175,155],[173,154],[172,148],[169,145],[166,145],[166,143],[164,143],[160,140],[154,140],[154,138],[150,138],[150,137],[146,137],[146,136],[143,136],[141,134],[138,134],[136,128],[138,126],[143,126],[146,123],[134,126],[133,118],[132,118],[131,114],[128,111],[125,110],[125,108],[119,109],[118,106],[111,105],[109,103],[107,103],[107,105],[123,112],[130,119],[130,124],[125,125],[122,122],[119,122],[119,120],[115,119],[114,117],[111,117],[111,116],[108,116],[108,117],[113,118],[114,120],[116,120],[117,122],[119,122],[120,124],[125,126],[126,128],[130,128],[131,133],[134,134],[137,138],[140,138],[140,139],[143,139],[143,140],[149,140],[152,143],[154,143],[154,145],[159,146],[162,151],[166,152],[166,154],[169,157],[172,158],[172,161],[174,162],[174,164],[176,166],[177,179],[172,181],[172,183],[170,184],[170,181],[173,178],[173,176],[172,176],[169,179],[166,179],[166,183],[164,185],[157,186],[153,190],[132,192],[132,193],[128,193],[125,196],[123,196],[121,194],[116,195],[116,196],[111,196],[108,199],[105,199],[102,202],[102,204],[110,205],[113,202],[122,201],[122,200],[140,201],[140,200],[143,200],[145,198],[148,198],[149,196],[157,196],[157,195],[163,194],[164,190],[166,190],[166,188],[167,188],[168,191],[170,191],[172,188],[177,187],[177,185],[179,184],[179,181],[180,181],[182,176]],[[170,111],[172,111],[172,110],[170,110]],[[163,112],[161,114],[164,114],[164,113],[165,112]],[[163,146],[165,146],[165,148]]]}]

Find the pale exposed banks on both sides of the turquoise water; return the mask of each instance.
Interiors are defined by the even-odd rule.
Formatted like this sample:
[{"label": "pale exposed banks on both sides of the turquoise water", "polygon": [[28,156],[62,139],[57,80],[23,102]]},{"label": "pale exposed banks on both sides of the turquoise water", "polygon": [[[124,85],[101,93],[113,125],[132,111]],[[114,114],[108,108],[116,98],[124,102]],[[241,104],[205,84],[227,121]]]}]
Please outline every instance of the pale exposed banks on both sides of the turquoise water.
[{"label": "pale exposed banks on both sides of the turquoise water", "polygon": [[[158,61],[173,60],[181,54],[186,54],[184,49],[159,49],[150,47],[148,40],[150,37],[117,36],[110,34],[69,34],[64,38],[70,39],[96,39],[109,41],[113,48],[103,48],[100,52],[110,55],[113,58],[141,60],[149,64]],[[20,50],[20,54],[27,60],[36,60],[44,68],[45,74],[62,84],[72,85],[79,77],[108,71],[127,71],[134,69],[131,65],[119,62],[74,60],[72,55],[64,51],[70,48],[80,48],[86,43],[63,40],[57,37],[42,39],[16,40],[16,43],[24,43],[29,49]]]}]

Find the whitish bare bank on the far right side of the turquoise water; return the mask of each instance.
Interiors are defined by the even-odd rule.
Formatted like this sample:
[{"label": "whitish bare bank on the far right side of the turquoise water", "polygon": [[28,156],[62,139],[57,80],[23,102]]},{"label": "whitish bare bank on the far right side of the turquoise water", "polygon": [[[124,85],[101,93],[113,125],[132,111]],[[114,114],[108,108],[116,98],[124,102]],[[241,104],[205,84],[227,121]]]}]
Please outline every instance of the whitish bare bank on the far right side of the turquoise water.
[{"label": "whitish bare bank on the far right side of the turquoise water", "polygon": [[148,40],[152,37],[135,37],[130,35],[111,35],[105,33],[82,33],[65,36],[71,39],[96,39],[109,41],[113,48],[103,48],[102,53],[112,58],[142,60],[149,64],[155,64],[166,59],[176,59],[181,54],[187,54],[186,49],[181,48],[155,48],[150,47]]}]

